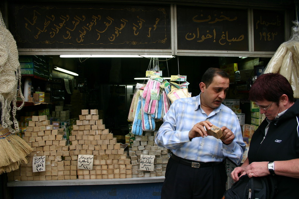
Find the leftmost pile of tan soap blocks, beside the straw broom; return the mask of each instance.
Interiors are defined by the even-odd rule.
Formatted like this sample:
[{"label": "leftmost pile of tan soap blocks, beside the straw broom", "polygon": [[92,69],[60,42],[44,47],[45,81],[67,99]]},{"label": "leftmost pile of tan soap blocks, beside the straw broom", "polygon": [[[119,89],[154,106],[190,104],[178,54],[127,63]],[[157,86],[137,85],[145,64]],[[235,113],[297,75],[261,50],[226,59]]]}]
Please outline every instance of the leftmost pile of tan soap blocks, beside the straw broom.
[{"label": "leftmost pile of tan soap blocks, beside the straw broom", "polygon": [[[33,148],[27,156],[28,164],[8,173],[9,181],[75,180],[77,166],[73,166],[67,140],[58,129],[53,129],[46,115],[32,116],[23,139]],[[45,171],[33,172],[34,156],[45,156]]]}]

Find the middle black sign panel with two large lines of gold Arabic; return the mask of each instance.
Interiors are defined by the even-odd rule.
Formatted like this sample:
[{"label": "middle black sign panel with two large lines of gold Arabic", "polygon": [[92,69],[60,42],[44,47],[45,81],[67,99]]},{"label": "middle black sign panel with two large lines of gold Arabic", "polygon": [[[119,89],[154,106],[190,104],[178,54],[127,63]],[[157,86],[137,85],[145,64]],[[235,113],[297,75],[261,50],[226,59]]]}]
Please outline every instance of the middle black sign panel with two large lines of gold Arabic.
[{"label": "middle black sign panel with two large lines of gold Arabic", "polygon": [[179,50],[248,50],[247,9],[177,6]]}]

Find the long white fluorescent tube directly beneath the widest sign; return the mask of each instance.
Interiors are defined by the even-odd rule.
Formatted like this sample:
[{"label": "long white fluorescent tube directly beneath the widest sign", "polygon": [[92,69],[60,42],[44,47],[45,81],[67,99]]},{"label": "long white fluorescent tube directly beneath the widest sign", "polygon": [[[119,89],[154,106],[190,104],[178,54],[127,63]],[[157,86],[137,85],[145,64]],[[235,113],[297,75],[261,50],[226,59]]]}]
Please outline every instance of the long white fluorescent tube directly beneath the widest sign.
[{"label": "long white fluorescent tube directly beneath the widest sign", "polygon": [[173,55],[60,55],[61,58],[173,58]]}]

